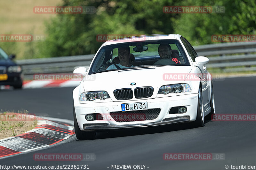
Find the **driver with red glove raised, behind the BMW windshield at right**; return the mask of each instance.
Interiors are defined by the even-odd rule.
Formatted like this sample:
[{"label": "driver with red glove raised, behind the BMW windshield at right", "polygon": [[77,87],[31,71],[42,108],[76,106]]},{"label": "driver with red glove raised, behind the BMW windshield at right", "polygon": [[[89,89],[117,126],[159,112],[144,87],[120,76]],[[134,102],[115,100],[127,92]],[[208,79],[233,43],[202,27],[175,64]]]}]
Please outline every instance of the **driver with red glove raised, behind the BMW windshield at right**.
[{"label": "driver with red glove raised, behind the BMW windshield at right", "polygon": [[169,44],[160,44],[158,46],[158,54],[161,59],[169,58],[176,64],[180,64],[180,61],[177,58],[172,58],[172,48]]}]

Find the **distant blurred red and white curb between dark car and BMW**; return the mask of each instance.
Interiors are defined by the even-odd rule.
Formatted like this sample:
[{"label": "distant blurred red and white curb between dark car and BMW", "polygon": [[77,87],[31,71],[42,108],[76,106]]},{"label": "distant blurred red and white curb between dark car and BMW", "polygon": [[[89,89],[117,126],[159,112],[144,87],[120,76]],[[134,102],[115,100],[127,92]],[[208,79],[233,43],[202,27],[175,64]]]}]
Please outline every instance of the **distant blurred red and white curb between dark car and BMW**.
[{"label": "distant blurred red and white curb between dark car and BMW", "polygon": [[[23,89],[51,88],[51,87],[76,87],[81,80],[27,80],[23,81]],[[2,85],[0,89],[12,89],[9,85]]]}]

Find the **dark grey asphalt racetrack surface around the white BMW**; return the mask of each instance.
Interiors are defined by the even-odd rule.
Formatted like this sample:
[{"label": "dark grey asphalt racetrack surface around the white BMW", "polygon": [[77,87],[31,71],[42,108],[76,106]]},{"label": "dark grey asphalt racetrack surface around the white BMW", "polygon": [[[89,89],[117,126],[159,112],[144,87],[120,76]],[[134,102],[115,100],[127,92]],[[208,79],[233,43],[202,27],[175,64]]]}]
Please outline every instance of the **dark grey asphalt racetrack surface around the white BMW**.
[{"label": "dark grey asphalt racetrack surface around the white BMW", "polygon": [[[217,114],[255,114],[256,77],[214,81]],[[27,109],[36,115],[73,120],[74,88],[1,90],[0,109]],[[202,128],[187,124],[100,132],[97,139],[68,142],[51,148],[0,159],[1,165],[146,165],[150,170],[225,169],[228,165],[256,166],[256,122],[206,122]],[[95,161],[35,161],[34,153],[95,153]],[[164,153],[224,153],[225,160],[163,160]],[[108,168],[109,167],[109,168]],[[148,168],[147,168],[148,167]],[[113,169],[113,168],[112,168]],[[133,169],[133,168],[132,168]]]}]

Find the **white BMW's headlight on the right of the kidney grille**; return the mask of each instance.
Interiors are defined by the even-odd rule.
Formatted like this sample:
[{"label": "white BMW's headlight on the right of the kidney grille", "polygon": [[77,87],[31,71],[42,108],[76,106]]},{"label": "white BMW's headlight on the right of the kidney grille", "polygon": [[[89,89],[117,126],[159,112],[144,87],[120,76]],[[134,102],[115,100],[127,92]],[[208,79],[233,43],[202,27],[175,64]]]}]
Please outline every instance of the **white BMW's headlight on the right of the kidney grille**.
[{"label": "white BMW's headlight on the right of the kidney grille", "polygon": [[158,94],[168,94],[171,92],[181,93],[181,92],[191,92],[192,89],[188,84],[174,84],[174,85],[163,85],[160,87]]}]

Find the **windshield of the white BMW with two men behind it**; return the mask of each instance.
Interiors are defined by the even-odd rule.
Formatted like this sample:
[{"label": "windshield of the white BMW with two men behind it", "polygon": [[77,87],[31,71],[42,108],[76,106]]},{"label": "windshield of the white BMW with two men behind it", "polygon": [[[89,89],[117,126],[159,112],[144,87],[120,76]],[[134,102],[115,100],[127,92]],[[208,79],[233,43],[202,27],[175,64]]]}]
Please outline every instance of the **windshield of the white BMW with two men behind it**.
[{"label": "windshield of the white BMW with two men behind it", "polygon": [[88,74],[140,67],[190,65],[178,40],[127,42],[100,49]]}]

